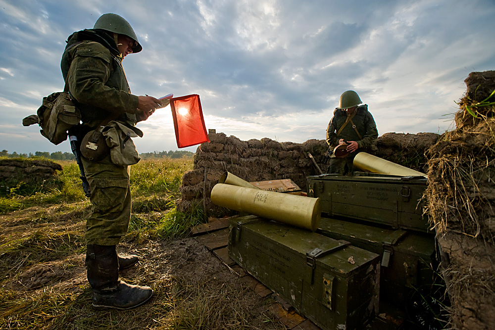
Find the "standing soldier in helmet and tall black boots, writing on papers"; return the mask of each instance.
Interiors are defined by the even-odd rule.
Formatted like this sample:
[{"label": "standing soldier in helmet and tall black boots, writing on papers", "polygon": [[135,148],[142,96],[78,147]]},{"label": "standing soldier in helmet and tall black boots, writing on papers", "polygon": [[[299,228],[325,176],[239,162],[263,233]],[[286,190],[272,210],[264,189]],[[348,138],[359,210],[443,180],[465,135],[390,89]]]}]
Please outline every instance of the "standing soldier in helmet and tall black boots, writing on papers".
[{"label": "standing soldier in helmet and tall black boots, writing on papers", "polygon": [[[104,14],[93,29],[74,32],[68,38],[61,68],[66,88],[81,112],[79,141],[110,120],[142,136],[135,124],[148,119],[161,102],[130,93],[122,60],[141,49],[131,25],[116,14]],[[153,291],[119,280],[119,269],[132,266],[138,258],[118,256],[116,252],[131,216],[130,166],[113,164],[109,154],[99,161],[84,157],[82,161],[91,188],[92,214],[86,221],[85,239],[93,306],[139,306]]]}]

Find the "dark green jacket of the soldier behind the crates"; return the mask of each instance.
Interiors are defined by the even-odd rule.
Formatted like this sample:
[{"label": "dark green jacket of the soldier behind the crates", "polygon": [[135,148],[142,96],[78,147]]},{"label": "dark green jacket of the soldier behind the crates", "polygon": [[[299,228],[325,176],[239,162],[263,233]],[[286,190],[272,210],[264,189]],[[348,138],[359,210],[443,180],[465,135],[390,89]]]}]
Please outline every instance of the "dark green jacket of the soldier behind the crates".
[{"label": "dark green jacket of the soldier behind the crates", "polygon": [[352,118],[352,122],[356,125],[356,129],[362,139],[359,138],[350,122],[347,123],[346,127],[344,127],[339,136],[337,136],[337,132],[342,125],[344,125],[346,119],[347,113],[345,110],[335,109],[334,116],[327,127],[327,143],[330,146],[336,146],[339,144],[340,139],[344,139],[344,141],[356,141],[358,149],[375,148],[378,130],[376,129],[373,116],[368,111],[368,105],[363,104],[358,106],[356,108],[356,114]]}]

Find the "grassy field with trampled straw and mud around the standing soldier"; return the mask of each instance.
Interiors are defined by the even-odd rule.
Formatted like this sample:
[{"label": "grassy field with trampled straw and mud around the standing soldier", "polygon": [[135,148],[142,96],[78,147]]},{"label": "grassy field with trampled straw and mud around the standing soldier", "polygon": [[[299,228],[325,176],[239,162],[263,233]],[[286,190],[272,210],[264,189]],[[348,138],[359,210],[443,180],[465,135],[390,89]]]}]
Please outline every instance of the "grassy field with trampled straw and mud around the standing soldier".
[{"label": "grassy field with trampled straw and mud around the standing soldier", "polygon": [[151,286],[151,302],[130,311],[92,308],[84,267],[90,203],[77,165],[61,164],[52,187],[23,195],[7,187],[0,197],[0,329],[285,329],[267,314],[267,301],[188,237],[202,210],[186,215],[175,205],[192,158],[131,169],[133,215],[117,250],[140,262],[120,275]]}]

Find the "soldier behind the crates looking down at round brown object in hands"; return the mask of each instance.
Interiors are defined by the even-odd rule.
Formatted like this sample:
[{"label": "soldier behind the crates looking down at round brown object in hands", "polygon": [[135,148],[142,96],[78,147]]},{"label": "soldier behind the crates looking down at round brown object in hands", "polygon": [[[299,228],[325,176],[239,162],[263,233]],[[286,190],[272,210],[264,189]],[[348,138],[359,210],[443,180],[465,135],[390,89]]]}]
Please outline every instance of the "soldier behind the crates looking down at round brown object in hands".
[{"label": "soldier behind the crates looking down at round brown object in hands", "polygon": [[349,154],[344,158],[330,157],[328,173],[352,175],[354,157],[360,151],[376,150],[378,131],[368,105],[360,105],[361,99],[354,91],[344,92],[339,107],[327,127],[327,143],[331,149],[347,144]]}]

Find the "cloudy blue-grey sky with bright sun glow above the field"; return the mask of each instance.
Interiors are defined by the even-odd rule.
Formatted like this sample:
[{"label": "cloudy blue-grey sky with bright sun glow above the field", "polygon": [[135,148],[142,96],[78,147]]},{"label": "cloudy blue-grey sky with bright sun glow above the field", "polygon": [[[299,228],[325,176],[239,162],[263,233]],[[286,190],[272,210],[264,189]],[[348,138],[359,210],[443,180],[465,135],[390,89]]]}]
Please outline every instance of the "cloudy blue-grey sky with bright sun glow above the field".
[{"label": "cloudy blue-grey sky with bright sun glow above the field", "polygon": [[[123,62],[133,94],[199,94],[206,128],[241,140],[325,139],[347,90],[380,135],[443,133],[468,74],[495,69],[494,0],[0,0],[0,150],[70,151],[21,121],[107,12],[143,46]],[[139,151],[177,149],[170,107],[138,125]]]}]

